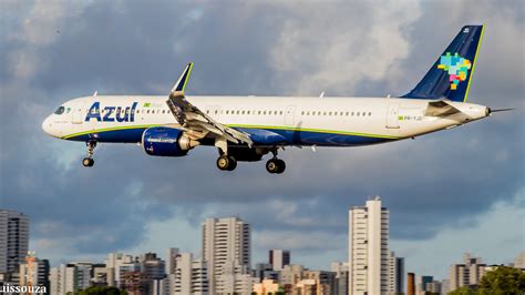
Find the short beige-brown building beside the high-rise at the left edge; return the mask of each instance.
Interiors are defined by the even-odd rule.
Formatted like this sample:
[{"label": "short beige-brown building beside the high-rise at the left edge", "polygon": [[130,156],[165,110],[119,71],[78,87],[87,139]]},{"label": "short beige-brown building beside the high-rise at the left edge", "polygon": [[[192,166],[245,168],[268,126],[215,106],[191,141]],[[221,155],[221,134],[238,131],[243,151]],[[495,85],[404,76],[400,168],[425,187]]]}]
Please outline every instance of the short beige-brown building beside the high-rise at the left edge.
[{"label": "short beige-brown building beside the high-rise at the left edge", "polygon": [[49,261],[39,260],[34,252],[29,252],[25,262],[20,264],[20,285],[42,286],[49,292]]}]

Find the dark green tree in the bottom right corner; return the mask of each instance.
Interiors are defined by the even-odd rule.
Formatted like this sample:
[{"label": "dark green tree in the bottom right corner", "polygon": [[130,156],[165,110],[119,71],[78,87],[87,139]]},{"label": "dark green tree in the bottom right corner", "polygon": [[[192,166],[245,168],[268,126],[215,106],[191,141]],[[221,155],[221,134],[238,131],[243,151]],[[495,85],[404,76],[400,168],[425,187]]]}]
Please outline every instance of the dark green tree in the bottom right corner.
[{"label": "dark green tree in the bottom right corner", "polygon": [[480,294],[524,294],[525,273],[518,268],[497,266],[486,273],[480,282]]}]

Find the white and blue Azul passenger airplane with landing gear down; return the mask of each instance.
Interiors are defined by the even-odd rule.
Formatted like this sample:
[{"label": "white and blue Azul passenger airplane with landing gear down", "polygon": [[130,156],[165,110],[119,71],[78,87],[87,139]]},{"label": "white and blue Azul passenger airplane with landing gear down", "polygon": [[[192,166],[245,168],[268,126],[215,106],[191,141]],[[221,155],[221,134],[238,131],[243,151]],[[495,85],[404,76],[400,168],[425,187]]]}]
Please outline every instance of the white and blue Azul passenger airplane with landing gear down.
[{"label": "white and blue Azul passenger airplane with landing gear down", "polygon": [[409,93],[399,98],[196,96],[184,92],[189,63],[169,95],[97,95],[64,102],[42,123],[51,136],[85,142],[84,166],[97,143],[136,143],[154,156],[185,156],[215,146],[222,171],[261,161],[285,171],[286,146],[359,146],[414,139],[491,115],[467,103],[484,26],[465,26]]}]

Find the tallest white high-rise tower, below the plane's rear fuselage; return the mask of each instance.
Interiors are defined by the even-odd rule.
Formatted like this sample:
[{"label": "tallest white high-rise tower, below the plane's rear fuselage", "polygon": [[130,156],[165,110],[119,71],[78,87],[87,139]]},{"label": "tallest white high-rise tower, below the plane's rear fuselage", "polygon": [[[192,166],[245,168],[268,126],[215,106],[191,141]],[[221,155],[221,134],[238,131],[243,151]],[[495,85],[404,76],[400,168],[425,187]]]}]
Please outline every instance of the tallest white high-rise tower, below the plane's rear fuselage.
[{"label": "tallest white high-rise tower, below the plane's rear fuselage", "polygon": [[349,293],[388,293],[389,211],[375,196],[350,210],[349,225]]}]

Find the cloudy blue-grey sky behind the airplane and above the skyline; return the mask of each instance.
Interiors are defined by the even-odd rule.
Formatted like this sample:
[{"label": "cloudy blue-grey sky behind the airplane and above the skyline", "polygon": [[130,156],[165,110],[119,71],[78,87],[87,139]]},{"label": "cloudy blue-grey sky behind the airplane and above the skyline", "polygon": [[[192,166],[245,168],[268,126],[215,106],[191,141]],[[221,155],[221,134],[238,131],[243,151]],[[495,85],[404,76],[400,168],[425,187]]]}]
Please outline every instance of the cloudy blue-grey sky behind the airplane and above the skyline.
[{"label": "cloudy blue-grey sky behind the airplane and above the skyline", "polygon": [[[0,207],[31,220],[56,265],[110,252],[200,253],[206,217],[251,224],[253,262],[291,251],[311,268],[348,260],[348,210],[380,195],[406,271],[447,276],[464,252],[488,264],[525,250],[523,1],[0,1]],[[470,102],[516,108],[450,131],[351,149],[287,149],[224,173],[217,152],[147,156],[132,144],[45,135],[62,102],[167,94],[406,93],[464,24],[485,23]],[[247,98],[249,99],[249,98]],[[322,103],[322,99],[319,99]]]}]

